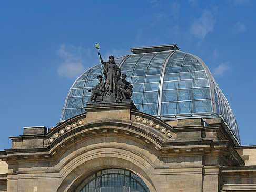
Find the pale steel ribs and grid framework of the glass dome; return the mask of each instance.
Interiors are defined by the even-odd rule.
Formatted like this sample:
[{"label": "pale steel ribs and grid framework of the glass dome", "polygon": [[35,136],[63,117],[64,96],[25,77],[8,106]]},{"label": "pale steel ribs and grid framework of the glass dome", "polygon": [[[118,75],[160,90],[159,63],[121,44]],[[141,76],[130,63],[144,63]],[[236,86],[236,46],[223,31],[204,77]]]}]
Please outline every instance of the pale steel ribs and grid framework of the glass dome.
[{"label": "pale steel ribs and grid framework of the glass dome", "polygon": [[[182,59],[182,63],[180,64],[180,66],[178,66],[178,68],[180,68],[179,72],[178,73],[173,73],[175,74],[176,76],[179,74],[179,78],[178,80],[173,80],[171,82],[175,82],[175,83],[178,83],[178,85],[176,86],[176,88],[174,90],[176,90],[176,100],[173,100],[172,102],[169,102],[171,104],[174,104],[176,103],[176,113],[172,113],[172,114],[161,114],[161,108],[163,107],[162,106],[162,103],[163,102],[163,93],[166,91],[164,89],[164,84],[166,83],[165,81],[165,73],[166,72],[166,68],[170,69],[170,68],[174,68],[173,66],[169,66],[170,64],[170,58],[175,58],[175,54],[176,55],[184,55],[183,56],[183,59]],[[151,58],[149,57],[149,55],[153,55]],[[149,67],[150,65],[154,65],[154,63],[151,63],[152,60],[157,60],[157,57],[155,58],[156,55],[166,55],[164,58],[161,58],[159,60],[162,60],[162,62],[158,63],[160,68],[157,68],[158,71],[160,71],[160,74],[157,74],[159,75],[159,81],[158,81],[158,85],[157,87],[154,87],[155,90],[145,90],[145,85],[146,84],[149,84],[150,83],[147,83],[146,82],[146,78],[147,77],[152,77],[152,76],[156,76],[156,75],[149,75],[147,74],[149,72]],[[174,56],[174,57],[173,57]],[[141,70],[141,72],[144,73],[144,75],[140,76],[142,77],[142,79],[144,78],[144,83],[134,83],[133,79],[131,78],[135,78],[136,76],[132,76],[134,74],[135,71],[139,71],[139,70],[136,70],[135,67],[139,66],[138,63],[139,63],[139,60],[141,58],[144,57],[144,61],[146,60],[145,58],[150,58],[150,59],[147,59],[147,67],[145,67],[144,64],[140,65],[140,66],[143,66],[145,70],[145,73],[143,72],[143,70]],[[185,68],[185,65],[183,65],[183,62],[184,61],[189,61],[189,60],[184,60],[185,57],[193,57],[194,59],[193,60],[196,60],[196,64],[189,64],[188,66],[193,66],[194,67],[194,70],[190,71],[189,72],[182,72],[182,67]],[[124,70],[124,69],[127,69],[127,67],[125,68],[125,65],[129,62],[129,58],[130,58],[130,61],[131,63],[133,62],[133,64],[131,66],[133,66],[133,69],[132,70]],[[133,59],[133,58],[136,58],[136,59]],[[178,57],[176,57],[178,58]],[[149,61],[150,60],[150,61]],[[143,60],[141,60],[142,63],[143,63]],[[191,60],[190,60],[191,61]],[[231,134],[233,135],[233,137],[235,138],[235,140],[237,140],[237,143],[238,145],[240,145],[240,136],[239,136],[239,130],[238,130],[238,125],[237,125],[237,122],[235,120],[235,117],[233,115],[233,112],[228,104],[228,101],[227,99],[225,98],[224,94],[221,92],[218,84],[216,84],[215,82],[215,79],[213,78],[212,74],[210,73],[210,70],[208,69],[208,67],[205,65],[205,63],[202,61],[202,59],[200,59],[199,57],[195,56],[195,55],[192,55],[192,54],[189,54],[189,53],[185,53],[185,52],[181,52],[180,50],[166,50],[166,51],[161,51],[161,52],[150,52],[150,53],[137,53],[137,54],[131,54],[131,55],[126,55],[126,56],[122,56],[122,57],[119,57],[119,58],[116,58],[115,59],[115,62],[116,64],[119,66],[119,68],[121,69],[121,73],[125,73],[125,72],[129,72],[129,74],[126,74],[127,75],[127,80],[129,82],[131,82],[131,84],[134,85],[134,88],[136,89],[136,85],[142,85],[143,86],[143,90],[141,92],[137,92],[136,90],[134,90],[134,93],[133,95],[135,96],[136,94],[140,93],[142,94],[142,99],[141,99],[141,102],[143,101],[144,97],[145,97],[145,93],[153,93],[153,92],[157,92],[157,98],[153,98],[153,99],[157,99],[156,100],[156,103],[154,103],[154,106],[156,106],[156,113],[155,114],[152,114],[151,115],[154,115],[156,117],[159,117],[163,120],[174,120],[174,119],[178,119],[178,118],[195,118],[195,117],[201,117],[201,118],[208,118],[208,117],[221,117],[224,121],[224,123],[228,126],[228,128],[230,129],[230,132]],[[178,63],[178,62],[181,62],[180,61],[173,61],[173,63]],[[157,64],[157,63],[156,63]],[[81,114],[81,113],[84,113],[85,110],[83,109],[83,106],[85,106],[87,100],[89,97],[90,97],[90,94],[88,94],[87,92],[87,89],[91,87],[94,87],[97,83],[97,75],[100,75],[101,71],[98,70],[98,72],[100,71],[100,73],[95,73],[95,74],[92,74],[90,75],[91,72],[93,72],[94,69],[96,69],[98,66],[98,69],[100,69],[100,65],[96,65],[88,70],[86,70],[85,73],[83,73],[80,77],[78,77],[76,79],[76,81],[74,82],[74,84],[72,85],[72,87],[70,88],[68,94],[67,94],[67,97],[66,97],[66,100],[65,100],[65,104],[64,104],[64,108],[63,108],[63,112],[62,112],[62,115],[61,115],[61,122],[63,120],[66,120],[68,118],[71,118],[72,116],[75,116],[75,115],[78,115],[78,114]],[[126,65],[127,66],[127,65]],[[186,66],[188,68],[188,66]],[[201,78],[201,79],[195,79],[195,73],[199,74],[198,71],[196,71],[196,67],[197,66],[202,66],[204,70],[201,70],[200,72],[205,72],[206,73],[206,77],[204,78]],[[142,68],[143,68],[142,67]],[[192,67],[191,67],[192,68]],[[156,69],[156,68],[153,68],[153,69]],[[90,72],[90,73],[89,73]],[[187,74],[186,74],[187,73]],[[185,80],[182,80],[180,79],[181,78],[181,74],[186,74],[188,75],[189,73],[194,73],[194,77],[192,79],[185,79]],[[89,77],[90,75],[90,78],[87,78],[87,76]],[[86,78],[83,78],[84,76],[86,76]],[[94,80],[91,79],[92,77],[94,77]],[[139,76],[137,76],[139,77]],[[82,80],[81,80],[82,79]],[[138,79],[138,78],[137,78]],[[149,78],[147,78],[149,79]],[[194,87],[194,84],[195,84],[195,80],[197,80],[197,82],[200,82],[200,80],[202,79],[207,79],[208,80],[208,86],[206,87]],[[83,82],[83,83],[81,83]],[[89,87],[86,85],[87,83],[86,82],[91,82],[91,84],[89,85]],[[187,83],[193,83],[192,87],[186,87],[186,88],[180,88],[180,82],[185,82],[185,84]],[[206,80],[204,80],[204,82],[206,82]],[[77,83],[81,83],[81,86],[78,86],[78,88],[76,88],[77,86]],[[153,84],[153,83],[152,83]],[[200,83],[199,83],[200,84]],[[86,87],[87,86],[87,87]],[[156,89],[157,88],[157,89]],[[208,109],[207,111],[205,112],[193,112],[193,103],[200,103],[200,100],[193,100],[192,97],[194,97],[194,95],[191,96],[191,99],[189,99],[188,101],[185,101],[187,103],[191,102],[191,106],[190,106],[190,112],[189,113],[177,113],[178,112],[178,104],[182,103],[182,101],[179,100],[179,95],[180,94],[180,91],[181,90],[187,90],[187,92],[189,92],[189,89],[191,89],[191,93],[194,94],[194,89],[202,89],[202,88],[209,88],[209,92],[210,92],[210,98],[207,98],[207,99],[202,99],[201,103],[203,103],[203,101],[205,100],[208,100],[208,103],[210,103],[210,105],[208,105]],[[72,97],[72,93],[73,93],[73,90],[75,89],[80,89],[80,92],[78,94],[78,96],[74,96]],[[83,92],[83,93],[82,93]],[[206,91],[207,92],[207,91]],[[205,92],[205,93],[206,93]],[[169,92],[170,93],[170,92]],[[74,98],[74,101],[77,102],[77,99],[78,99],[78,105],[79,107],[75,108],[75,104],[73,105],[73,107],[71,108],[67,108],[67,105],[69,104],[68,102],[70,102],[70,100],[68,100],[69,98]],[[80,100],[81,101],[80,101]],[[133,100],[135,100],[133,98]],[[183,102],[183,103],[185,103]],[[135,105],[138,107],[139,110],[142,110],[142,106],[151,106],[152,103],[146,103],[144,104],[144,102],[142,103],[136,103],[134,102]],[[205,102],[206,103],[206,102]],[[194,104],[195,105],[195,104]],[[199,104],[198,104],[199,105]],[[210,107],[210,110],[209,110],[209,107]],[[80,112],[79,112],[80,110]],[[70,112],[70,115],[68,116],[68,112]],[[75,113],[73,113],[75,112]],[[149,113],[149,111],[145,111],[145,113]],[[149,113],[150,114],[150,113]]]}]

